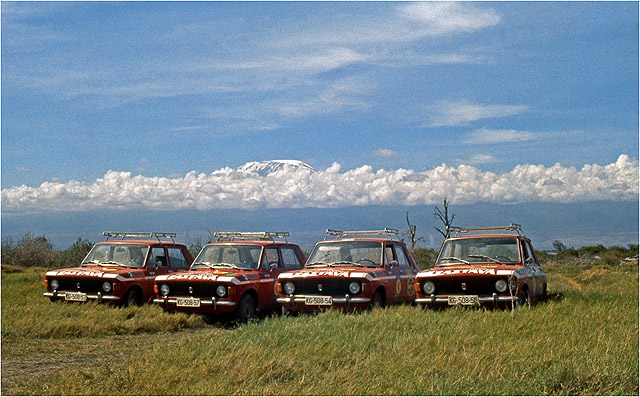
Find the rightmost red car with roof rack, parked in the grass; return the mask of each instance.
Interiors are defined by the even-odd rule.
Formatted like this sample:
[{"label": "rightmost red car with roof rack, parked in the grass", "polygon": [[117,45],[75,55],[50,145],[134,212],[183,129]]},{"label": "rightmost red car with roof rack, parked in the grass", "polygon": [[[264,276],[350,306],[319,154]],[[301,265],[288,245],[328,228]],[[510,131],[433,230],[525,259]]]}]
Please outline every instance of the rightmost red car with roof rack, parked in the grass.
[{"label": "rightmost red car with roof rack, parked in the grass", "polygon": [[455,235],[443,242],[435,267],[416,276],[416,303],[513,308],[546,297],[547,278],[520,225],[448,232]]}]

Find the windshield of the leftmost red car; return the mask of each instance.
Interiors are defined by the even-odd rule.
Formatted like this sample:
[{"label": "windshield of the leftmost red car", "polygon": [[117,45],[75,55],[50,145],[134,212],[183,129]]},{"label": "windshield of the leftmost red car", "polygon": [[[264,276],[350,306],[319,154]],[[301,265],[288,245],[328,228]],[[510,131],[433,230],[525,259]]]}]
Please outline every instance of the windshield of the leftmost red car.
[{"label": "windshield of the leftmost red car", "polygon": [[96,244],[82,261],[82,265],[143,267],[149,250],[143,244]]}]

